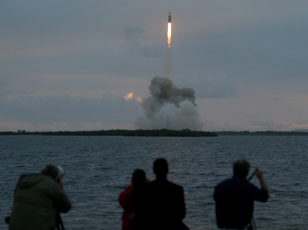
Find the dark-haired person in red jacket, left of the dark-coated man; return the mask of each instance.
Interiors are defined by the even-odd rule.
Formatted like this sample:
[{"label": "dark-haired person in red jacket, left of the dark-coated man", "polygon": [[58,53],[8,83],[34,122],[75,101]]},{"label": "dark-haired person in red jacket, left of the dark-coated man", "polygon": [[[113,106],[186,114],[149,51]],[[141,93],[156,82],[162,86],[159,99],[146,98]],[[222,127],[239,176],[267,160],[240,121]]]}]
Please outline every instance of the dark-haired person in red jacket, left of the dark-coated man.
[{"label": "dark-haired person in red jacket, left of the dark-coated man", "polygon": [[133,176],[130,185],[125,188],[119,195],[119,203],[123,207],[122,215],[122,230],[132,230],[134,227],[134,194],[148,182],[149,179],[145,176],[145,172],[142,169],[136,169],[133,172]]}]

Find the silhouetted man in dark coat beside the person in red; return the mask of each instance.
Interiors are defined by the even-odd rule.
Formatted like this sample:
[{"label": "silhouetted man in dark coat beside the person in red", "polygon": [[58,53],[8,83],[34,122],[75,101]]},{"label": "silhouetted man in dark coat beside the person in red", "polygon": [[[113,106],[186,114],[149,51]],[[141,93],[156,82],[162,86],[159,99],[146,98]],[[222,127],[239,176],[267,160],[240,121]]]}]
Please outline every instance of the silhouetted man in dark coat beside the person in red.
[{"label": "silhouetted man in dark coat beside the person in red", "polygon": [[168,163],[156,159],[153,163],[156,180],[146,183],[136,199],[135,229],[188,229],[185,217],[183,187],[167,180]]}]

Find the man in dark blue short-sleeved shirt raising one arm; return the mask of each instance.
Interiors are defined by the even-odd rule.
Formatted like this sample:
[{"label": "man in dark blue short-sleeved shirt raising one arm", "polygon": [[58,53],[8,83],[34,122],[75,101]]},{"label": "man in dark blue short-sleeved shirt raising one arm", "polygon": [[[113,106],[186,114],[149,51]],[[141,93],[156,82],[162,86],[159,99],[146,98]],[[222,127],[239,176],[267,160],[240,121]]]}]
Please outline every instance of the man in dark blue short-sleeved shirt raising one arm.
[{"label": "man in dark blue short-sleeved shirt raising one arm", "polygon": [[249,169],[250,164],[247,160],[236,161],[233,164],[233,177],[215,187],[218,228],[244,229],[252,218],[253,201],[265,202],[270,197],[261,169],[256,168],[254,171],[260,181],[261,189],[247,181]]}]

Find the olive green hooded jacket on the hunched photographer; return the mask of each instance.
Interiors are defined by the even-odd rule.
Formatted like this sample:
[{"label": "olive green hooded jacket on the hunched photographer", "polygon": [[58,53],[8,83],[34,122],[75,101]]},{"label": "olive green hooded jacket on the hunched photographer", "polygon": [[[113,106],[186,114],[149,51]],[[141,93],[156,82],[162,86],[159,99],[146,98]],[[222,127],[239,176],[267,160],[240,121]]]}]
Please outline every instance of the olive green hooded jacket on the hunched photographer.
[{"label": "olive green hooded jacket on the hunched photographer", "polygon": [[70,209],[70,200],[51,177],[22,176],[14,195],[9,230],[54,230],[57,212]]}]

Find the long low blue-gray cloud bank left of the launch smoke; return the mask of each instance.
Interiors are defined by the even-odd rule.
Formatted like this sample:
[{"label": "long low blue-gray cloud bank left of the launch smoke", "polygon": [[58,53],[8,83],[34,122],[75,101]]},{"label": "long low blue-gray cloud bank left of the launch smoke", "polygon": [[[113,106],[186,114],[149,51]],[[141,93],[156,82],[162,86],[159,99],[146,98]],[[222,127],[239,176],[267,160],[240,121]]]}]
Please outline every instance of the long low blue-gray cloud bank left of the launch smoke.
[{"label": "long low blue-gray cloud bank left of the launch smoke", "polygon": [[106,93],[102,99],[70,97],[17,97],[2,103],[2,121],[22,121],[30,124],[54,122],[107,122],[133,124],[141,107],[134,99]]}]

